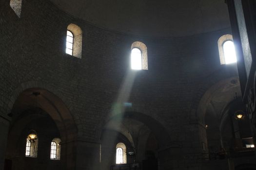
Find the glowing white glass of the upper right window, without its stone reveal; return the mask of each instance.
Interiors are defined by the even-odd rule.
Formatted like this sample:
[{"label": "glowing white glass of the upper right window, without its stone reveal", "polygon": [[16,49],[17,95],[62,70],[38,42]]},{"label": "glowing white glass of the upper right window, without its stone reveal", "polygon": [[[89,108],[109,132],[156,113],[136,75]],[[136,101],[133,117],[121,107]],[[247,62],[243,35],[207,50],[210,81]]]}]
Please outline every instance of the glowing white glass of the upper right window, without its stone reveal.
[{"label": "glowing white glass of the upper right window, without its stone reveal", "polygon": [[236,51],[233,41],[226,41],[223,44],[225,64],[236,63]]}]

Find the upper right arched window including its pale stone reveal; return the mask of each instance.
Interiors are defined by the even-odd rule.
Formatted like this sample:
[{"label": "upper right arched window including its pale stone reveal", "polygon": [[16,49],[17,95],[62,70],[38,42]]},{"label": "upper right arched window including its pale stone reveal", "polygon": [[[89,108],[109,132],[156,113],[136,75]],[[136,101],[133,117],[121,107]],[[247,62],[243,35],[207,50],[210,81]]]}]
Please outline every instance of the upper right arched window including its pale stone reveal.
[{"label": "upper right arched window including its pale stone reveal", "polygon": [[218,39],[218,51],[220,64],[236,63],[236,51],[232,35],[226,34]]}]

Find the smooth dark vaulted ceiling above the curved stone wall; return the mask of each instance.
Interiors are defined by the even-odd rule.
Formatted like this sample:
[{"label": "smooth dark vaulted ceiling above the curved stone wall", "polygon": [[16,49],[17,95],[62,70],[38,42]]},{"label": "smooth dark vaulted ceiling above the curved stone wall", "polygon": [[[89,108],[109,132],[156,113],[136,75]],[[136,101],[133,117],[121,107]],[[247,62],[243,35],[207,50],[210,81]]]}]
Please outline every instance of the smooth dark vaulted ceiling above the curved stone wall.
[{"label": "smooth dark vaulted ceiling above the curved stone wall", "polygon": [[98,27],[149,36],[183,36],[230,27],[224,0],[51,0]]}]

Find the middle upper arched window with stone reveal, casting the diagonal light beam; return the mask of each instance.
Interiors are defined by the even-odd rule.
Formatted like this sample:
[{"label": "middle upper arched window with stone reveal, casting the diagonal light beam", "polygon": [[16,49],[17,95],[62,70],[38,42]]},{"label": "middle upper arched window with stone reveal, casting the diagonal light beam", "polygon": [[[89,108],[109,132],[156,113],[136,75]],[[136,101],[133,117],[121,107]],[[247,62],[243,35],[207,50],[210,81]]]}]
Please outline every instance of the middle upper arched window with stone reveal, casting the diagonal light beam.
[{"label": "middle upper arched window with stone reveal, casting the diagonal light beam", "polygon": [[136,41],[131,46],[131,68],[148,69],[147,47],[142,42]]}]

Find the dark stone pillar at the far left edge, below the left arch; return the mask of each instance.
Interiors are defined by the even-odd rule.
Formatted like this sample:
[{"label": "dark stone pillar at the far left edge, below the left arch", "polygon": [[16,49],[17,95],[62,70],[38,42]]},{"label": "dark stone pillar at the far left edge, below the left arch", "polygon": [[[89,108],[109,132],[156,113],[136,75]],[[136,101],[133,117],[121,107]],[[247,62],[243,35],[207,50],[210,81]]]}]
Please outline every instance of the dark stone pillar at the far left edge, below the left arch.
[{"label": "dark stone pillar at the far left edge, below the left arch", "polygon": [[9,130],[9,120],[0,115],[0,170],[3,170],[7,138]]}]

